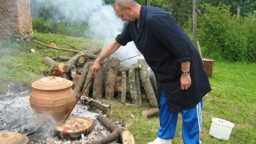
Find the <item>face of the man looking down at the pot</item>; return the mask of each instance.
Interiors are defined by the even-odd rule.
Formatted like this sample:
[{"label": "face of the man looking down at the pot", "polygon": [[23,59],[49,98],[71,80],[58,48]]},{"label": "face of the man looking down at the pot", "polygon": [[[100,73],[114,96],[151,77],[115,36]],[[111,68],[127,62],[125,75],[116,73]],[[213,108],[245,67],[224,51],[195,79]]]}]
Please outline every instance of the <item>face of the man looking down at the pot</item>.
[{"label": "face of the man looking down at the pot", "polygon": [[135,21],[135,18],[133,16],[132,9],[126,8],[124,10],[119,9],[119,7],[115,8],[115,13],[118,15],[123,21],[127,20],[130,23]]}]

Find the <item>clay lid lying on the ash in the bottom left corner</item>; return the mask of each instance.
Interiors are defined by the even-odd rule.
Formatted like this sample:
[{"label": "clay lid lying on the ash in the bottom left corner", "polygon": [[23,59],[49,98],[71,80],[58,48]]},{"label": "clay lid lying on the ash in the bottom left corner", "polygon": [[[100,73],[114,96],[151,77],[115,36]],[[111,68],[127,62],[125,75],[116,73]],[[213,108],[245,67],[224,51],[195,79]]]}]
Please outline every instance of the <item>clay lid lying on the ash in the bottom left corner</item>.
[{"label": "clay lid lying on the ash in the bottom left corner", "polygon": [[27,144],[28,143],[28,137],[16,132],[3,132],[0,133],[0,143],[2,144]]}]

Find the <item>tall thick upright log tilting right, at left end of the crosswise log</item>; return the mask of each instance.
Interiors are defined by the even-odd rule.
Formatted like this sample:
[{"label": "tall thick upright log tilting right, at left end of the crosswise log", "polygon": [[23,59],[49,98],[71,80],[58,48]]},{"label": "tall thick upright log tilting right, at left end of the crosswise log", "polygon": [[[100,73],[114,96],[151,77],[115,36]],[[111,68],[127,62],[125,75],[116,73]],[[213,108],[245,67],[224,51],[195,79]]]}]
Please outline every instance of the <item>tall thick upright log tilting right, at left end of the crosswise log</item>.
[{"label": "tall thick upright log tilting right, at left end of the crosswise log", "polygon": [[113,57],[109,67],[108,76],[106,77],[105,97],[108,100],[114,99],[114,88],[116,77],[118,76],[118,66],[120,60]]}]

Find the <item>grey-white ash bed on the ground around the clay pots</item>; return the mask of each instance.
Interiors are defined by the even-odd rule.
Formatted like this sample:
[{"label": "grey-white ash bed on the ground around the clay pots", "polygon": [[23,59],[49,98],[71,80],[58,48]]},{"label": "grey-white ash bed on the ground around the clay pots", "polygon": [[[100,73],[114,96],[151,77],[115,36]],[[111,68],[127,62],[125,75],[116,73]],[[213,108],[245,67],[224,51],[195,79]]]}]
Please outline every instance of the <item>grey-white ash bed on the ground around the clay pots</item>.
[{"label": "grey-white ash bed on the ground around the clay pots", "polygon": [[[90,110],[83,104],[77,104],[70,117],[88,117],[92,119],[93,125],[91,133],[81,136],[79,140],[66,140],[57,137],[54,124],[44,125],[40,123],[30,107],[29,97],[31,90],[24,92],[6,92],[0,95],[0,133],[3,131],[15,131],[26,135],[29,143],[90,143],[110,135],[96,119],[100,110]],[[112,143],[118,143],[114,141]]]}]

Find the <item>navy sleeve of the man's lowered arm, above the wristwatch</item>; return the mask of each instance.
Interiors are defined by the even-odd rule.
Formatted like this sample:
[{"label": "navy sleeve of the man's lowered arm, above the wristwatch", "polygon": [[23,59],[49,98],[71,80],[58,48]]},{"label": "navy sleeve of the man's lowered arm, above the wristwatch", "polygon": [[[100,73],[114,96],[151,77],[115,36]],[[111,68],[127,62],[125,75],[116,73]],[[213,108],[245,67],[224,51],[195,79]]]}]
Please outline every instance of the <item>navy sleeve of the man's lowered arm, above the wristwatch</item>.
[{"label": "navy sleeve of the man's lowered arm, above the wristwatch", "polygon": [[148,19],[147,26],[155,37],[177,57],[178,62],[191,61],[194,45],[170,14],[153,15]]}]

